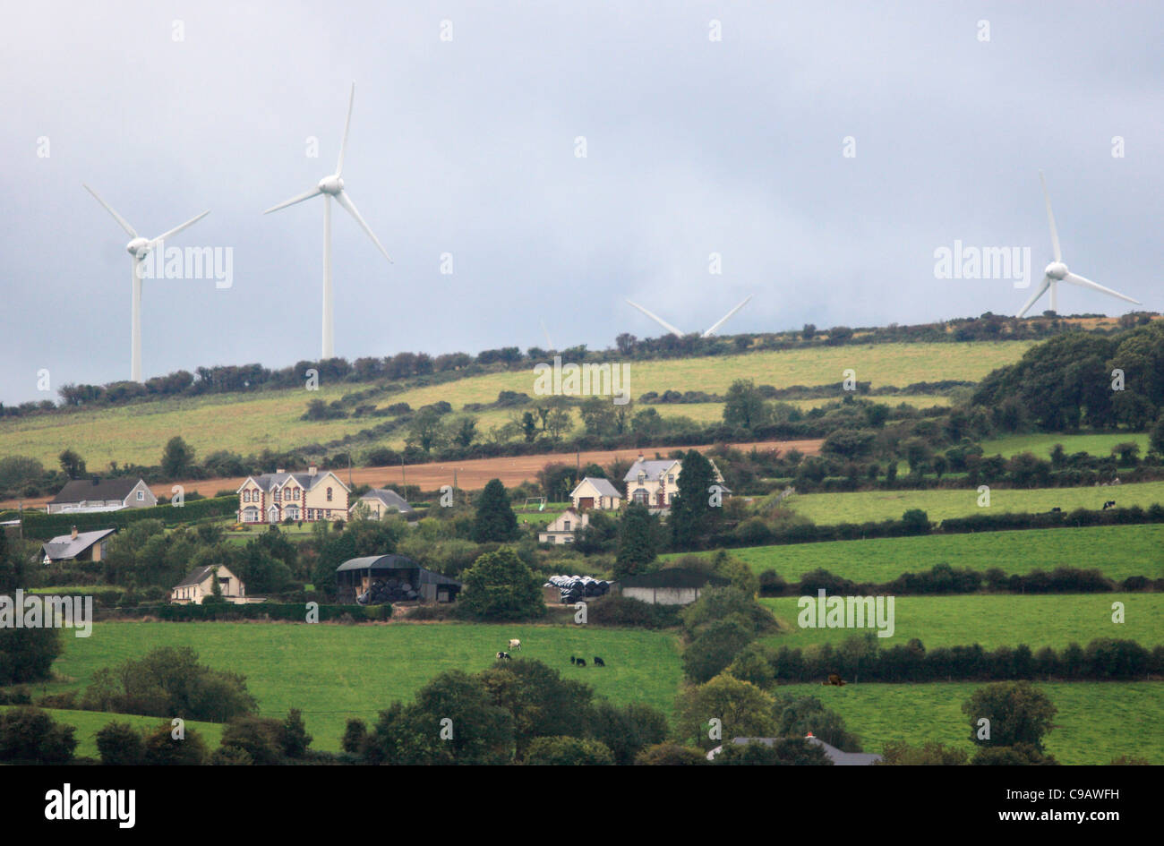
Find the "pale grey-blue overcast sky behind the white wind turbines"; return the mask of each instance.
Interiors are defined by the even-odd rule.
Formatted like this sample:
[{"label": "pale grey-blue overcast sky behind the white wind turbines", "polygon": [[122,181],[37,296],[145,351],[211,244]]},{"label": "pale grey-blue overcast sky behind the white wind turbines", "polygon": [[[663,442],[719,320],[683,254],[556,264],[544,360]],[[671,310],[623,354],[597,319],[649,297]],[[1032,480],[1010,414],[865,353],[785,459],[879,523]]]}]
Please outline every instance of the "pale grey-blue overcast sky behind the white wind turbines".
[{"label": "pale grey-blue overcast sky behind the white wind turbines", "polygon": [[[934,254],[1041,269],[1039,169],[1071,269],[1158,311],[1162,24],[1159,3],[12,3],[0,399],[129,376],[128,239],[83,182],[147,237],[210,209],[168,246],[233,250],[229,289],[146,282],[147,378],[318,357],[324,204],[262,211],[334,171],[353,80],[343,178],[395,264],[333,205],[349,360],[546,346],[539,321],[560,348],[658,335],[625,297],[686,330],[747,294],[724,332],[1014,313],[1029,291],[937,279]],[[1060,290],[1064,313],[1124,308]]]}]

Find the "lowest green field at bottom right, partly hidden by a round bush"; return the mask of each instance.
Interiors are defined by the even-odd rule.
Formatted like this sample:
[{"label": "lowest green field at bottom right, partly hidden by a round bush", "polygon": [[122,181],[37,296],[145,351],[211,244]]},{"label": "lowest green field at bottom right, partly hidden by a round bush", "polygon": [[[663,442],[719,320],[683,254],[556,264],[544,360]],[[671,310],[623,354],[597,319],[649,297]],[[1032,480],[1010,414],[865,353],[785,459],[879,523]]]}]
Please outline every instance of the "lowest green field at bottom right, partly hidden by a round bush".
[{"label": "lowest green field at bottom right, partly hidden by a round bush", "polygon": [[[890,740],[920,746],[937,740],[973,754],[970,719],[961,703],[982,687],[975,682],[942,684],[846,684],[843,688],[794,684],[781,692],[815,696],[845,718],[866,752],[881,752]],[[1105,765],[1120,755],[1164,763],[1164,682],[1041,682],[1058,709],[1045,737],[1059,763]],[[726,726],[725,726],[726,728]]]}]

